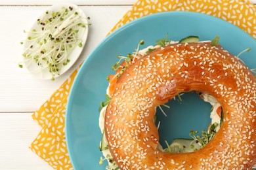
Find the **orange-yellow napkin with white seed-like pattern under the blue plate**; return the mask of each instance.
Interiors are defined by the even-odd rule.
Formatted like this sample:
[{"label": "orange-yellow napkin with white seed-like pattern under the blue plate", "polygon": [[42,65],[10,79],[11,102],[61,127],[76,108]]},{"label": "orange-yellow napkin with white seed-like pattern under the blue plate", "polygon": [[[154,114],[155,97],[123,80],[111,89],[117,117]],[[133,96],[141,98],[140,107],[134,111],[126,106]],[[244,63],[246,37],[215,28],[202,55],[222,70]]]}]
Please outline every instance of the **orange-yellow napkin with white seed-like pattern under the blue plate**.
[{"label": "orange-yellow napkin with white seed-like pattern under the blue plate", "polygon": [[[256,39],[256,5],[247,0],[139,0],[110,31],[148,14],[183,10],[217,16]],[[32,117],[42,127],[30,148],[54,169],[73,169],[66,148],[64,121],[67,97],[77,70]]]}]

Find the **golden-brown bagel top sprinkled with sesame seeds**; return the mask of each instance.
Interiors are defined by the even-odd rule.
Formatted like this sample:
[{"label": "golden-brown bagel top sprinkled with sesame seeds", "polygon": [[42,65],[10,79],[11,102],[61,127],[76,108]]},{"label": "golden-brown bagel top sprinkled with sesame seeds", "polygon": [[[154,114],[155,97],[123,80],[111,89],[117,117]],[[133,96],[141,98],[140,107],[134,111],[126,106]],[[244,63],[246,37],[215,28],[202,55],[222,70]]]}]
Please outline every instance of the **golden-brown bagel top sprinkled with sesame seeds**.
[{"label": "golden-brown bagel top sprinkled with sesame seeds", "polygon": [[[156,107],[188,91],[207,92],[223,107],[217,135],[191,153],[158,150]],[[256,78],[209,43],[171,44],[129,65],[106,109],[108,148],[120,169],[249,169],[256,164]]]}]

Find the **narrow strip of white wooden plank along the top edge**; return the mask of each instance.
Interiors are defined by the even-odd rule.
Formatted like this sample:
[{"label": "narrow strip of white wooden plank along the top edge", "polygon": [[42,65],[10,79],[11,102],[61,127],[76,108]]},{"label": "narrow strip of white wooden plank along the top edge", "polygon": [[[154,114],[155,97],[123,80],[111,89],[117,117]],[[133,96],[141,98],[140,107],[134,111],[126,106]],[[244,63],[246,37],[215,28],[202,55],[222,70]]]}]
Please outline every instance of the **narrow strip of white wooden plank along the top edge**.
[{"label": "narrow strip of white wooden plank along the top edge", "polygon": [[133,5],[137,0],[1,0],[0,5],[53,5],[57,3],[74,3],[75,5]]}]

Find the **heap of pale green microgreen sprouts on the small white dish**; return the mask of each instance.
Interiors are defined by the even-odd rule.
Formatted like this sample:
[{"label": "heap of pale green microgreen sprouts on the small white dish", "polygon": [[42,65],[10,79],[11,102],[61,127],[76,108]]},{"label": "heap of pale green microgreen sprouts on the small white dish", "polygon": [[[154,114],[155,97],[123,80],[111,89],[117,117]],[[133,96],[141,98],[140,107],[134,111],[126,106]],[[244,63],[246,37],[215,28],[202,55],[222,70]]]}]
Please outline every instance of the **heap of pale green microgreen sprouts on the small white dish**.
[{"label": "heap of pale green microgreen sprouts on the small white dish", "polygon": [[[86,24],[73,7],[62,7],[60,11],[47,11],[37,20],[37,27],[28,33],[24,62],[35,62],[39,67],[34,72],[47,69],[52,80],[60,75],[62,67],[70,62],[69,54],[76,46],[82,47]],[[25,41],[20,42],[23,44]]]}]

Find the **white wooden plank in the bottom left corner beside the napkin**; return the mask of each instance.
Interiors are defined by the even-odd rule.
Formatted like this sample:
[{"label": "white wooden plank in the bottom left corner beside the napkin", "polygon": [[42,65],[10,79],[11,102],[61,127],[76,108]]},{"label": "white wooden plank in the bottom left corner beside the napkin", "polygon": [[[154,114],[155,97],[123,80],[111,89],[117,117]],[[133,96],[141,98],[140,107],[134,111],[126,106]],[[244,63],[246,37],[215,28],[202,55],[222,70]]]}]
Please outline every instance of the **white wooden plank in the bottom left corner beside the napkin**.
[{"label": "white wooden plank in the bottom left corner beside the napkin", "polygon": [[28,148],[41,130],[31,114],[0,113],[0,169],[52,169]]}]

